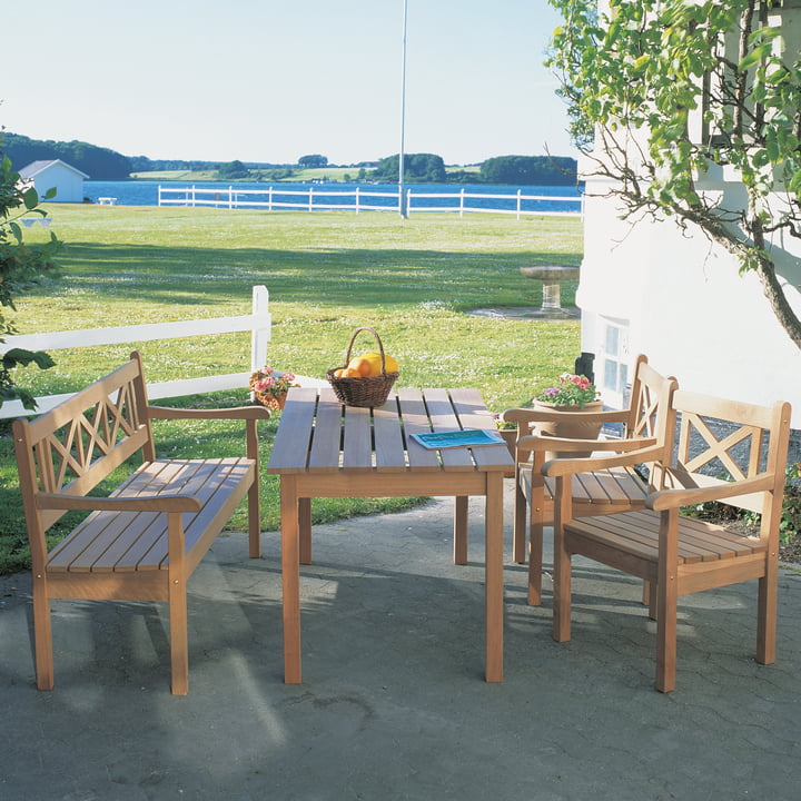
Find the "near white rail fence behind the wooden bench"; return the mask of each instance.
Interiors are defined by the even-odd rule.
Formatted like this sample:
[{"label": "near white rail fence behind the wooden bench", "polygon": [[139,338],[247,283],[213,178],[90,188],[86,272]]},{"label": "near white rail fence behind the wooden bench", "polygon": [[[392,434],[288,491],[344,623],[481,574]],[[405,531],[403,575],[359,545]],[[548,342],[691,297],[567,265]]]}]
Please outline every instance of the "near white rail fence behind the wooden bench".
[{"label": "near white rail fence behind the wooden bench", "polygon": [[[182,397],[185,395],[196,395],[220,389],[241,389],[247,387],[250,374],[265,364],[267,343],[270,339],[270,329],[269,293],[267,291],[267,287],[255,286],[253,288],[253,313],[248,315],[10,336],[6,337],[4,343],[0,343],[0,354],[18,347],[28,350],[58,350],[61,348],[119,345],[123,343],[174,339],[189,336],[208,337],[215,334],[228,334],[231,332],[250,332],[250,369],[247,373],[229,373],[201,378],[177,378],[175,380],[148,384],[148,396],[151,399]],[[306,376],[298,376],[298,383],[305,386],[319,386],[325,384],[324,380],[308,378]],[[67,393],[65,395],[38,397],[38,407],[34,411],[26,409],[19,400],[7,400],[0,406],[0,418],[42,414],[71,397],[71,393]]]}]

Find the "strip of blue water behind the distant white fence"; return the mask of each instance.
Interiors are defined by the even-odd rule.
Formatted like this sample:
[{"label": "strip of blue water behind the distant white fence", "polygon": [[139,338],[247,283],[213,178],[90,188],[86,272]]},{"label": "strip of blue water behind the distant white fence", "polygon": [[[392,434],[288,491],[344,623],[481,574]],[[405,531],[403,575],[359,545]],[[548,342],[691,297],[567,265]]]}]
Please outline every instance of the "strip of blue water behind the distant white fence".
[{"label": "strip of blue water behind the distant white fence", "polygon": [[[239,192],[265,192],[273,188],[274,208],[287,208],[280,204],[296,204],[300,208],[308,208],[309,189],[314,194],[314,205],[350,207],[355,204],[354,195],[338,196],[339,192],[354,192],[359,190],[359,205],[362,208],[390,206],[397,208],[397,184],[269,184],[265,182],[241,182],[228,184],[226,181],[164,181],[162,189],[182,189],[184,194],[178,195],[169,192],[166,197],[171,200],[184,199],[190,197],[191,187],[200,190],[212,190],[197,195],[198,200],[202,200],[204,206],[228,206],[228,190],[233,188],[235,194]],[[83,195],[91,202],[98,202],[98,198],[116,198],[115,202],[120,206],[158,206],[157,181],[85,181]],[[433,209],[451,209],[456,210],[459,206],[458,194],[464,190],[465,195],[478,195],[482,197],[465,197],[465,210],[471,208],[484,210],[498,210],[506,212],[515,212],[517,210],[517,194],[523,196],[520,201],[520,208],[525,214],[536,212],[577,212],[580,210],[580,192],[574,186],[494,186],[494,185],[458,185],[458,184],[412,184],[406,186],[412,192],[411,211],[421,209],[421,207]],[[303,195],[288,195],[286,192],[303,192]],[[370,192],[387,194],[394,197],[369,197]],[[449,195],[451,197],[431,197],[435,195]],[[504,198],[488,197],[493,195],[506,196]],[[421,197],[427,196],[427,197]],[[537,198],[547,197],[552,199],[526,199],[536,196]],[[557,198],[572,198],[572,200],[563,200]],[[257,200],[260,204],[267,202],[267,196],[241,196],[239,205],[247,206],[248,200]],[[175,205],[175,204],[170,204]],[[188,205],[188,204],[187,204]]]}]

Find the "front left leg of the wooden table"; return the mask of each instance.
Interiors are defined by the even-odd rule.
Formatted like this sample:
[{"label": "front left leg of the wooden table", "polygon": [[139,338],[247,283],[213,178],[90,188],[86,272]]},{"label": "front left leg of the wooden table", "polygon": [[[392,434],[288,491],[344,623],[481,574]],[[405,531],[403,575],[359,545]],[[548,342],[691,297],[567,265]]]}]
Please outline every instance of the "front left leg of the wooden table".
[{"label": "front left leg of the wooden table", "polygon": [[284,596],[284,681],[300,683],[300,545],[297,479],[280,479],[281,589]]}]

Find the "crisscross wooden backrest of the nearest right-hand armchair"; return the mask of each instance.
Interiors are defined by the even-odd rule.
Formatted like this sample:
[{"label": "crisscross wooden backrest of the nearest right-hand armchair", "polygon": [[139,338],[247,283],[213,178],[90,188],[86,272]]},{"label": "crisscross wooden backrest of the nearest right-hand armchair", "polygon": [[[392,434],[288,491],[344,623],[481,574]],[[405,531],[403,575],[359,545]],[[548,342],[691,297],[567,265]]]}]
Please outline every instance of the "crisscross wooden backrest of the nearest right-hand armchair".
[{"label": "crisscross wooden backrest of the nearest right-hand armchair", "polygon": [[666,487],[704,487],[761,477],[764,491],[722,498],[721,503],[762,514],[764,532],[781,514],[790,404],[765,407],[680,390],[673,396],[673,406],[679,431]]}]

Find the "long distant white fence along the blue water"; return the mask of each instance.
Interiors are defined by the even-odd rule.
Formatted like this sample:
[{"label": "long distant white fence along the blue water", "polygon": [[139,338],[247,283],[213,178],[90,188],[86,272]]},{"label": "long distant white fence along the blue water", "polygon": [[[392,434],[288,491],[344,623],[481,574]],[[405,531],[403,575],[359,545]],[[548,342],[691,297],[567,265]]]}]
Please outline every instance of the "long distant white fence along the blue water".
[{"label": "long distant white fence along the blue water", "polygon": [[[437,201],[432,204],[432,201]],[[501,204],[479,206],[476,201],[501,201]],[[525,204],[560,202],[575,207],[574,210],[537,209]],[[415,205],[416,204],[416,205]],[[398,191],[370,191],[356,187],[355,189],[320,189],[309,186],[308,189],[283,189],[269,187],[267,189],[238,189],[229,186],[228,189],[209,189],[205,187],[162,187],[158,188],[159,206],[210,206],[214,208],[263,208],[267,211],[279,209],[301,209],[304,211],[319,211],[325,209],[362,211],[397,211],[399,206]],[[490,195],[469,192],[461,189],[455,192],[424,192],[406,190],[406,209],[413,211],[441,211],[465,214],[508,214],[516,215],[517,219],[525,215],[558,216],[578,215],[582,210],[581,197],[556,197],[552,195],[524,195],[522,189],[511,195]]]}]

